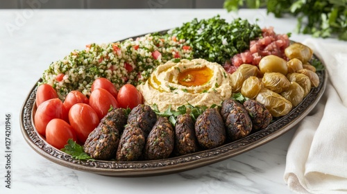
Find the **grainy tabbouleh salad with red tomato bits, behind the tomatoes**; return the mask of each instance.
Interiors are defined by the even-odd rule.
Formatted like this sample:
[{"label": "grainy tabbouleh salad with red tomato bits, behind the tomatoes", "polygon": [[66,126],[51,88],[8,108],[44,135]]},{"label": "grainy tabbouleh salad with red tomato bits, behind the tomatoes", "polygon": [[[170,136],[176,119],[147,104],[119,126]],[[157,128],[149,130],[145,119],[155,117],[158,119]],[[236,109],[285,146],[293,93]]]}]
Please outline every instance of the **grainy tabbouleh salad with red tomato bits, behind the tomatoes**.
[{"label": "grainy tabbouleh salad with red tomato bits, behind the tomatoes", "polygon": [[137,85],[159,64],[174,58],[192,58],[192,50],[185,46],[184,39],[159,33],[124,42],[88,44],[84,50],[74,50],[52,62],[42,75],[42,83],[52,85],[62,100],[71,90],[89,96],[96,78],[108,78],[116,89],[126,83]]}]

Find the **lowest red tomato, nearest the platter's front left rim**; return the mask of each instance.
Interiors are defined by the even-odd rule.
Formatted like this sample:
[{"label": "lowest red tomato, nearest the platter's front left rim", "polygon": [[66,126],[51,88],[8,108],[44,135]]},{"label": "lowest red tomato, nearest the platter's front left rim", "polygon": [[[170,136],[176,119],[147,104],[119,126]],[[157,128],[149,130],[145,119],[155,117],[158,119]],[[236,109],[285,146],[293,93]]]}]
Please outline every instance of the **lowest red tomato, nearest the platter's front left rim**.
[{"label": "lowest red tomato, nearest the platter's front left rim", "polygon": [[66,121],[53,118],[46,126],[46,141],[59,150],[64,148],[67,140],[77,141],[76,132]]}]

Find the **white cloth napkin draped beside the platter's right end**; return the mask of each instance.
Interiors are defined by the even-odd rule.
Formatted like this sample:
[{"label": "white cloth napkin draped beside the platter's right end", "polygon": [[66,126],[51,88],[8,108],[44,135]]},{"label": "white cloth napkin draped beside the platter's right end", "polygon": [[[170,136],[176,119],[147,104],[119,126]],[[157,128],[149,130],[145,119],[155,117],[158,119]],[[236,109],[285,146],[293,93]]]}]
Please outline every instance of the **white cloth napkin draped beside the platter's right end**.
[{"label": "white cloth napkin draped beside the platter's right end", "polygon": [[288,148],[284,178],[296,193],[347,193],[347,42],[333,42],[303,42],[325,63],[328,83]]}]

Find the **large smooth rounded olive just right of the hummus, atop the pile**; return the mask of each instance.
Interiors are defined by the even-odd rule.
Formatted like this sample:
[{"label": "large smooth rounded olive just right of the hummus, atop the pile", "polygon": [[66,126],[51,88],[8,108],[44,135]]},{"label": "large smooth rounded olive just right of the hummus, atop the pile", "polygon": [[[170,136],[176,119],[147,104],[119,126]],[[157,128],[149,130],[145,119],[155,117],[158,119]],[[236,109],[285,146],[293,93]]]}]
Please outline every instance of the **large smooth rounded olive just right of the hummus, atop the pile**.
[{"label": "large smooth rounded olive just right of the hummus, atop the pile", "polygon": [[287,61],[276,56],[267,55],[259,62],[259,69],[262,73],[278,72],[287,75]]}]

